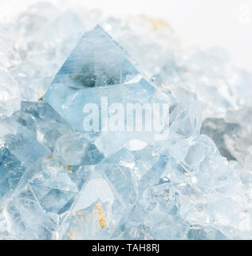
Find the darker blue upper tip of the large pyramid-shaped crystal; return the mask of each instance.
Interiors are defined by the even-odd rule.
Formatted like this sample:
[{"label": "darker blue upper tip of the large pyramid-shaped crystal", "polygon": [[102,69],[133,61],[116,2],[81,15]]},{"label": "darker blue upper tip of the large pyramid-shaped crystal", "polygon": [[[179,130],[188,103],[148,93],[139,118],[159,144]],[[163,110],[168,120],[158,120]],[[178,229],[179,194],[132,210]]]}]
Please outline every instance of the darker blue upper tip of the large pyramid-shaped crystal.
[{"label": "darker blue upper tip of the large pyramid-shaped crystal", "polygon": [[85,33],[53,83],[85,89],[128,82],[139,74],[125,51],[100,26]]}]

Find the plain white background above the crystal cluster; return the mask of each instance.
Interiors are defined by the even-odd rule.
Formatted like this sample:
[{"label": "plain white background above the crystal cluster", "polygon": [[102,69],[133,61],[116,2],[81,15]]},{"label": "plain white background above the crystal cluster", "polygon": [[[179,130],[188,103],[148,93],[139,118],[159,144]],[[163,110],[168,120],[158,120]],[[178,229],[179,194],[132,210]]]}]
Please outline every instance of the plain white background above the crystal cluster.
[{"label": "plain white background above the crystal cluster", "polygon": [[[0,0],[0,20],[26,10],[34,0]],[[47,1],[49,2],[49,1]],[[188,45],[222,46],[232,62],[252,71],[252,0],[51,0],[60,6],[99,8],[105,15],[163,18]]]}]

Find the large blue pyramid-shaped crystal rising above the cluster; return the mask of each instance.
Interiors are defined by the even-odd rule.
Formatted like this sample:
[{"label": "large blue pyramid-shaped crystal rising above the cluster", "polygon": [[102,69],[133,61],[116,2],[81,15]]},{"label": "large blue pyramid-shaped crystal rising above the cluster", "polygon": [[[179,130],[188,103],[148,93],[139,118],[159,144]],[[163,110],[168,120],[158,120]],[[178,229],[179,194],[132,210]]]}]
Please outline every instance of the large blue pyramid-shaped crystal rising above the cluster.
[{"label": "large blue pyramid-shaped crystal rising above the cluster", "polygon": [[[100,26],[96,26],[82,36],[61,66],[45,94],[45,100],[75,130],[89,134],[89,139],[92,134],[91,137],[95,137],[94,141],[100,135],[100,138],[104,138],[104,134],[100,132],[104,127],[104,123],[100,121],[104,105],[108,108],[113,103],[120,103],[123,106],[128,102],[144,104],[150,102],[156,92],[135,66],[136,63],[129,58],[127,52]],[[87,104],[95,105],[96,110],[100,111],[99,129],[95,133],[90,133],[90,130],[87,132],[84,128],[85,118],[90,114],[85,110]],[[111,118],[111,115],[108,114],[108,118]],[[113,136],[116,134],[113,133]],[[132,134],[129,135],[131,136]],[[121,137],[120,134],[115,138],[117,137]],[[127,135],[124,141],[129,137]],[[104,152],[105,144],[107,142],[97,142],[97,145],[103,145],[99,150]],[[117,149],[116,146],[114,148]]]}]

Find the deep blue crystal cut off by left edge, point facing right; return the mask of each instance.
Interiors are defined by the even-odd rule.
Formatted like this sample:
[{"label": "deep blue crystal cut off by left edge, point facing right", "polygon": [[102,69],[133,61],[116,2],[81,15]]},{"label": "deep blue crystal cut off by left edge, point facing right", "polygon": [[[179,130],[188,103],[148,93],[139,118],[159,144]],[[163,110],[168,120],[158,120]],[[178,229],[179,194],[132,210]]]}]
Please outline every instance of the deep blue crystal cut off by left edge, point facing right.
[{"label": "deep blue crystal cut off by left edge, point facing right", "polygon": [[26,185],[48,151],[35,134],[10,119],[1,122],[1,205]]}]

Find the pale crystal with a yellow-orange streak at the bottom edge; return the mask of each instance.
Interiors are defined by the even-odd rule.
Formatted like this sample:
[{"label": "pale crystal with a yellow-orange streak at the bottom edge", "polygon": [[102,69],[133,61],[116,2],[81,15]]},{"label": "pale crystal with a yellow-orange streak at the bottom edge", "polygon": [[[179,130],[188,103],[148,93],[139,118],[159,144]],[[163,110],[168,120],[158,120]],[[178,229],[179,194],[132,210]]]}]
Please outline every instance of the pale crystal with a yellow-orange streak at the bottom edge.
[{"label": "pale crystal with a yellow-orange streak at the bottom edge", "polygon": [[[133,158],[121,150],[97,166],[89,167],[92,178],[81,192],[67,219],[65,238],[106,239],[115,236],[120,222],[136,202],[136,179],[132,173]],[[90,194],[89,197],[86,195]],[[87,222],[79,225],[81,219]],[[71,235],[69,235],[71,234]]]}]

